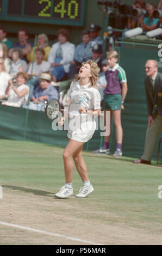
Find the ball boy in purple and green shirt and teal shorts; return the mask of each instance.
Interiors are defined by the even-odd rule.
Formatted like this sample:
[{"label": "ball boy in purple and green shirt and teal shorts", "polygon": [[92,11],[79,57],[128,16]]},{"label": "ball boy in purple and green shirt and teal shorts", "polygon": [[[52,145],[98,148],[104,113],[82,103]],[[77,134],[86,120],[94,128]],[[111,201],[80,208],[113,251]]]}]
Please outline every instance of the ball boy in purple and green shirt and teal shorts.
[{"label": "ball boy in purple and green shirt and teal shorts", "polygon": [[[125,71],[117,64],[118,54],[116,51],[107,52],[108,65],[105,71],[107,87],[104,90],[104,126],[106,126],[106,113],[110,111],[113,117],[116,130],[116,150],[113,156],[122,156],[122,125],[121,125],[121,109],[124,109],[123,103],[127,94],[127,78]],[[94,153],[104,153],[109,155],[110,135],[104,137],[103,148],[94,151]]]}]

